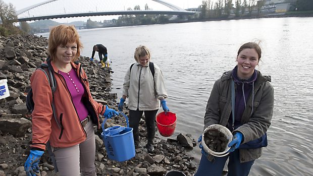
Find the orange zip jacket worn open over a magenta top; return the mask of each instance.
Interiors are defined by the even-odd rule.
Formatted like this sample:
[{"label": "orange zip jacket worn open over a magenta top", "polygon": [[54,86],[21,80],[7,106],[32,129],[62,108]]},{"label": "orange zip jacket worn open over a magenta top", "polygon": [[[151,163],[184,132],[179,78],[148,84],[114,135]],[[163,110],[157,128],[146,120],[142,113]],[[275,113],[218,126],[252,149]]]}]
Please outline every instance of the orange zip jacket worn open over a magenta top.
[{"label": "orange zip jacket worn open over a magenta top", "polygon": [[[86,139],[86,132],[82,127],[77,111],[73,105],[71,94],[66,86],[64,78],[58,74],[58,69],[51,62],[54,68],[54,75],[57,81],[57,89],[54,93],[58,127],[53,116],[52,92],[45,74],[41,70],[36,70],[30,78],[30,85],[33,91],[33,101],[35,103],[32,112],[32,144],[31,148],[45,150],[45,144],[50,141],[50,145],[56,148],[70,147],[77,145]],[[93,100],[87,75],[81,68],[81,64],[71,63],[76,70],[82,85],[85,88],[83,102],[88,109],[91,121],[100,128],[98,114],[103,114],[106,106]],[[80,72],[81,70],[81,72]],[[80,75],[81,74],[81,75]]]}]

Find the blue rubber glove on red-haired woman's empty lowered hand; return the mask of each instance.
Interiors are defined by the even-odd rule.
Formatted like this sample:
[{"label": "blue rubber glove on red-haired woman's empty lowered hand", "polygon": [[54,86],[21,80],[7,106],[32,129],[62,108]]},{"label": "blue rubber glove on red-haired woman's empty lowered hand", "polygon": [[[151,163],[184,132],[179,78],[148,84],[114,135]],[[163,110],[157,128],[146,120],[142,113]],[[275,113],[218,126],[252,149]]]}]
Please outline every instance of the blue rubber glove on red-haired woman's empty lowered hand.
[{"label": "blue rubber glove on red-haired woman's empty lowered hand", "polygon": [[24,170],[27,176],[36,176],[39,173],[39,161],[44,151],[30,150],[29,156],[24,164]]}]

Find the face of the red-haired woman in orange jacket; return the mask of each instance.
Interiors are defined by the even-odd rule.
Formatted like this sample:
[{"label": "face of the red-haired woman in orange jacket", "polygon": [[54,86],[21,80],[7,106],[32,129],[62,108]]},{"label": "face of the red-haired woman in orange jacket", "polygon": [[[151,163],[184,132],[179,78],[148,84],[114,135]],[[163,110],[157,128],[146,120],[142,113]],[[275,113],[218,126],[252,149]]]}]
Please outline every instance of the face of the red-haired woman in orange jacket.
[{"label": "face of the red-haired woman in orange jacket", "polygon": [[70,64],[74,60],[77,52],[77,43],[67,43],[59,45],[56,52],[55,62],[59,65]]}]

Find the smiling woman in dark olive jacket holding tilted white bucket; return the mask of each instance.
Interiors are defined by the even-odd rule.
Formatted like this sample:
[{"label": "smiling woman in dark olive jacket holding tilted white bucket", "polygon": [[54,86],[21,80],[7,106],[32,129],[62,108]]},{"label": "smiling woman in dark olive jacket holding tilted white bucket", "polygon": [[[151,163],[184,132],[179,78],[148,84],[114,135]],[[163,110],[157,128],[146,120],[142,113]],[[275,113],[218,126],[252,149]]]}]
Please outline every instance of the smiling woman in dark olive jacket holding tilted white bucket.
[{"label": "smiling woman in dark olive jacket holding tilted white bucket", "polygon": [[[261,156],[262,148],[240,147],[241,144],[262,137],[271,125],[274,89],[270,77],[262,76],[255,70],[261,54],[257,43],[243,44],[237,53],[237,66],[215,82],[206,105],[204,129],[220,124],[232,131],[234,139],[229,144],[229,155],[224,157],[213,157],[202,149],[195,176],[222,175],[228,157],[228,175],[248,175],[254,160]],[[235,85],[235,112],[232,112],[231,103],[232,81]],[[201,145],[199,147],[202,148]]]}]

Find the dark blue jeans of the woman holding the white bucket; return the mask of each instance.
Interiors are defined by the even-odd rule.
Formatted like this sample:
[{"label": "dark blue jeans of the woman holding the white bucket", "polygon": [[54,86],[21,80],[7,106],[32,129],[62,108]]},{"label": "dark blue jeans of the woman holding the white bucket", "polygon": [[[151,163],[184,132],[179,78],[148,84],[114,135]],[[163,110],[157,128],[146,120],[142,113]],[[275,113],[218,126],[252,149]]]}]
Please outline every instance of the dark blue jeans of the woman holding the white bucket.
[{"label": "dark blue jeans of the woman holding the white bucket", "polygon": [[213,162],[207,160],[206,157],[202,154],[198,170],[194,174],[194,176],[222,175],[222,171],[228,157],[229,157],[229,162],[227,165],[228,176],[245,176],[249,174],[251,166],[254,163],[254,160],[240,163],[239,149],[237,149],[228,154],[227,156],[214,157]]}]

